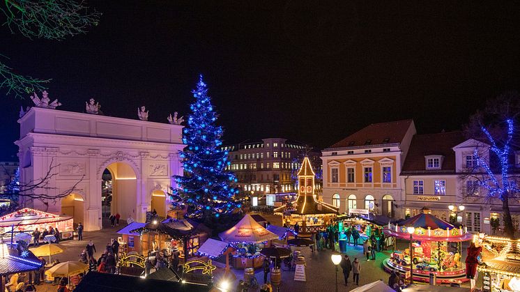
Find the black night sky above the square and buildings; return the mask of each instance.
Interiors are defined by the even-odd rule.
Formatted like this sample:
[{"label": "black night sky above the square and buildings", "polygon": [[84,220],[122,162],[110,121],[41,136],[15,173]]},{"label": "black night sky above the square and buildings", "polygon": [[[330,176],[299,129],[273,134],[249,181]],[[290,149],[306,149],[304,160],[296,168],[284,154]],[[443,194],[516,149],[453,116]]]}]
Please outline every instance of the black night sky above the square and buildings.
[{"label": "black night sky above the square and buildings", "polygon": [[[422,133],[454,130],[486,99],[520,89],[519,6],[366,2],[90,0],[103,15],[89,33],[28,40],[1,26],[0,53],[17,72],[52,78],[62,110],[83,112],[94,97],[109,116],[137,118],[144,104],[158,122],[187,114],[202,73],[224,143],[287,137],[323,148],[402,118]],[[6,159],[31,100],[3,100]]]}]

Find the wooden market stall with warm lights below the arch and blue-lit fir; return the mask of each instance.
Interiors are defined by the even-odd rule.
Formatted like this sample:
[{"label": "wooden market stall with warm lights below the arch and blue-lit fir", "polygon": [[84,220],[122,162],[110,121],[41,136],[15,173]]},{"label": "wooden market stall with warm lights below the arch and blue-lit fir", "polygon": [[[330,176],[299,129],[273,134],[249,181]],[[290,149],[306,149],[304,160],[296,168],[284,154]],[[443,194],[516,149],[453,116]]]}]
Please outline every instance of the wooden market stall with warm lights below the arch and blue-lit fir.
[{"label": "wooden market stall with warm lights below the arch and blue-lit fir", "polygon": [[197,256],[197,250],[211,234],[206,225],[192,219],[176,220],[168,218],[162,222],[152,220],[144,227],[130,230],[141,234],[141,249],[145,256],[155,256],[157,252],[169,256],[179,252],[179,263]]}]

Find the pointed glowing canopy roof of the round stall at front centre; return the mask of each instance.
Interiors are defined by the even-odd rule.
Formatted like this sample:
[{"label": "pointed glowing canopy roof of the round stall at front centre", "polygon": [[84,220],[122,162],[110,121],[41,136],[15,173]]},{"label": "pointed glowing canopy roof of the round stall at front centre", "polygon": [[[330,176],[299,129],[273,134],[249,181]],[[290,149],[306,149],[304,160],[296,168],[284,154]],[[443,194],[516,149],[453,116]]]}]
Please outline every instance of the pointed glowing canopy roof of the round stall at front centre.
[{"label": "pointed glowing canopy roof of the round stall at front centre", "polygon": [[278,239],[275,233],[263,228],[249,214],[246,214],[235,226],[219,233],[218,236],[227,243],[263,243]]}]

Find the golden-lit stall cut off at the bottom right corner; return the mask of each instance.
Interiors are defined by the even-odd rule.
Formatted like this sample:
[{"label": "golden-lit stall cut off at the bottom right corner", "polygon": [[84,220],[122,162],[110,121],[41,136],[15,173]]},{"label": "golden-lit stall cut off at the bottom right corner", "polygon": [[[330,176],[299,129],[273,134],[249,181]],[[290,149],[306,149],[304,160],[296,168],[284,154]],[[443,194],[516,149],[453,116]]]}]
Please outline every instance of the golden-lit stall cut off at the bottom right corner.
[{"label": "golden-lit stall cut off at the bottom right corner", "polygon": [[520,291],[520,240],[475,236],[482,247],[475,288],[485,292]]}]

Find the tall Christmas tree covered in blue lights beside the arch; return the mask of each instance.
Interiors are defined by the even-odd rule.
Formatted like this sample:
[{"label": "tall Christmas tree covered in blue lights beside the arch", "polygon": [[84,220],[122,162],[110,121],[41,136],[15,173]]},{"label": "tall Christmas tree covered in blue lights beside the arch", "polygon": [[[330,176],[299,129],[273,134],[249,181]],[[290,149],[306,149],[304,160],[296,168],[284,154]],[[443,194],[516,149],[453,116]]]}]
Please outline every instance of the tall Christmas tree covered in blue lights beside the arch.
[{"label": "tall Christmas tree covered in blue lights beside the arch", "polygon": [[172,188],[173,206],[185,206],[185,217],[201,218],[204,222],[215,217],[228,215],[240,203],[234,199],[238,189],[234,187],[236,178],[226,170],[230,163],[228,151],[222,151],[222,127],[215,125],[217,114],[211,105],[202,75],[193,92],[195,101],[190,105],[192,114],[188,126],[183,130],[181,152],[186,176],[176,176],[178,187]]}]

